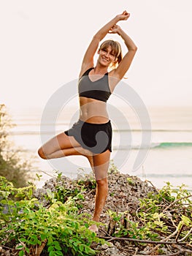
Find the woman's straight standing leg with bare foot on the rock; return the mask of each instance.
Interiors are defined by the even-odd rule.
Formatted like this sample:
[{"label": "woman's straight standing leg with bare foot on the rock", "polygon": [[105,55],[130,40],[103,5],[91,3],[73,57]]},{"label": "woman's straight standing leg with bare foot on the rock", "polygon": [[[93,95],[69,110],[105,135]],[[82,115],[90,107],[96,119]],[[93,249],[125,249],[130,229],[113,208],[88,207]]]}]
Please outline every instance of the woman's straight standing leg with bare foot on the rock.
[{"label": "woman's straight standing leg with bare foot on the rock", "polygon": [[[110,151],[93,156],[94,173],[96,177],[96,203],[93,220],[99,222],[101,211],[104,208],[104,203],[107,199],[108,184],[107,171],[110,165]],[[90,230],[97,232],[96,225],[91,225]]]}]

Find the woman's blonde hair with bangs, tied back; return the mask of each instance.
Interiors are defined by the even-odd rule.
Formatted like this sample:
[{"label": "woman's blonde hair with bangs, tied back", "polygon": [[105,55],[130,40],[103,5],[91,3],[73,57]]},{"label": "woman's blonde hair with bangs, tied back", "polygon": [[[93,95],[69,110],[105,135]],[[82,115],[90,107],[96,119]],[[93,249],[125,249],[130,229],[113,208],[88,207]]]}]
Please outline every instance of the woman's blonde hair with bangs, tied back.
[{"label": "woman's blonde hair with bangs, tied back", "polygon": [[115,69],[123,59],[121,46],[119,42],[109,39],[101,43],[99,50],[106,50],[109,46],[112,48],[112,53],[115,55],[115,61],[111,64],[112,69]]}]

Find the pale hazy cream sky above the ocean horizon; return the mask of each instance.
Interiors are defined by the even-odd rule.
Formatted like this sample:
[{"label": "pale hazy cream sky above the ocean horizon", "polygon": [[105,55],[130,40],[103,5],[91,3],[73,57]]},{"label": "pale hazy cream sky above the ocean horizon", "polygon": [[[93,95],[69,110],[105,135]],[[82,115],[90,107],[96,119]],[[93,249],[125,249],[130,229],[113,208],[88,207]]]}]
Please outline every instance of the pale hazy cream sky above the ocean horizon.
[{"label": "pale hazy cream sky above the ocean horizon", "polygon": [[[0,102],[43,107],[80,72],[93,34],[123,10],[119,25],[137,55],[125,81],[146,105],[192,105],[192,1],[0,1]],[[109,34],[106,38],[118,39]]]}]

